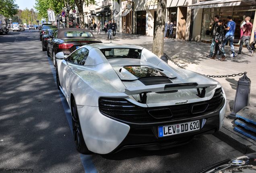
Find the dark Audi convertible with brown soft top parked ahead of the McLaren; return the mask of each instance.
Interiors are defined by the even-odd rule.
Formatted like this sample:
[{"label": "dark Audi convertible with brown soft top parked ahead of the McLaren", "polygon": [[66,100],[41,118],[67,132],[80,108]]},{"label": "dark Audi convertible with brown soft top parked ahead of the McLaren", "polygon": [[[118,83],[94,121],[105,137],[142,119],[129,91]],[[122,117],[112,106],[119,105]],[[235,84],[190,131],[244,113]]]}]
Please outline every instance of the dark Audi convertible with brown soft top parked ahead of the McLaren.
[{"label": "dark Audi convertible with brown soft top parked ahead of the McLaren", "polygon": [[70,54],[80,46],[92,43],[101,43],[101,40],[95,38],[90,30],[81,28],[58,29],[54,32],[52,38],[47,40],[47,55],[53,58],[55,66],[55,55],[58,52]]}]

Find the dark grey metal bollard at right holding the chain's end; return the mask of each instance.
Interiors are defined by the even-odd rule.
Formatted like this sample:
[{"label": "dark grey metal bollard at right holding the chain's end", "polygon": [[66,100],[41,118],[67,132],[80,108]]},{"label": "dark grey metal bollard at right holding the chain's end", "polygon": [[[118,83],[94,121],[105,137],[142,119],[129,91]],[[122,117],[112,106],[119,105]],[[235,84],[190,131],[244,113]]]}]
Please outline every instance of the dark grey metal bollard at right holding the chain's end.
[{"label": "dark grey metal bollard at right holding the chain's end", "polygon": [[233,112],[227,116],[228,118],[237,119],[237,117],[235,117],[236,113],[248,106],[250,99],[250,87],[251,80],[246,76],[246,72],[244,72],[244,76],[239,78],[237,82]]}]

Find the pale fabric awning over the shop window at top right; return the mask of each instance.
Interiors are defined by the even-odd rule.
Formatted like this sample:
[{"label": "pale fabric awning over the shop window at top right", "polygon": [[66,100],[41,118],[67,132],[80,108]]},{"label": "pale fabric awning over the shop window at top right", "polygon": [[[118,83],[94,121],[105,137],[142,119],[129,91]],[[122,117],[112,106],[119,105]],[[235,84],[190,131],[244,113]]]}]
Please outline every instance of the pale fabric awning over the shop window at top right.
[{"label": "pale fabric awning over the shop window at top right", "polygon": [[202,1],[196,4],[191,4],[188,6],[188,9],[198,9],[198,8],[214,8],[214,7],[223,7],[223,6],[238,6],[242,0],[209,0]]}]

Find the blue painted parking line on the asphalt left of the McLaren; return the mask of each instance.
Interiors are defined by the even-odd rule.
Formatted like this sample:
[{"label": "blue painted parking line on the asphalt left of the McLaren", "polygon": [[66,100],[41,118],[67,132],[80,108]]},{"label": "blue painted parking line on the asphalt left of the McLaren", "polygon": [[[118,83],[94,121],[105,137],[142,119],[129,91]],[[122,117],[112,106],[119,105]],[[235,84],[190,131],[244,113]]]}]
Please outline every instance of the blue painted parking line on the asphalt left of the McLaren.
[{"label": "blue painted parking line on the asphalt left of the McLaren", "polygon": [[[55,69],[55,67],[53,65],[53,62],[52,62],[52,59],[50,57],[48,57],[48,62],[50,64],[50,68],[52,70],[52,75],[54,76],[54,81],[56,83],[56,69]],[[57,86],[56,86],[56,88],[57,88]],[[67,103],[66,98],[64,97],[63,93],[59,90],[58,90],[58,92],[59,92],[59,95],[60,95],[60,100],[61,100],[64,112],[65,112],[66,118],[68,120],[68,125],[70,127],[71,134],[73,135],[71,111],[69,109],[68,103]],[[96,170],[94,164],[93,164],[93,161],[91,159],[91,155],[80,154],[80,159],[81,159],[81,162],[82,162],[83,167],[85,169],[85,173],[97,173],[98,172]]]}]

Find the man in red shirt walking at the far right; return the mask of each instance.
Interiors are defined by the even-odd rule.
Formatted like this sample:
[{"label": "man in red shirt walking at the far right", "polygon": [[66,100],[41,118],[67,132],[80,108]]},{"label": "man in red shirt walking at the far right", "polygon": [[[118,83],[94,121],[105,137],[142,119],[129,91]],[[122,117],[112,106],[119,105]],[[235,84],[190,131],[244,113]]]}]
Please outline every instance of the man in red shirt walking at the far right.
[{"label": "man in red shirt walking at the far right", "polygon": [[250,23],[251,18],[249,16],[247,16],[244,20],[246,21],[246,24],[244,24],[241,27],[241,29],[244,31],[244,34],[243,34],[242,38],[240,39],[239,52],[237,54],[241,54],[243,44],[245,44],[246,48],[249,50],[249,52],[252,56],[252,48],[249,45],[250,37],[252,34],[252,24]]}]

